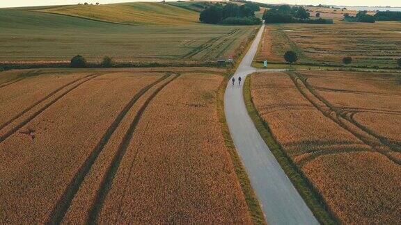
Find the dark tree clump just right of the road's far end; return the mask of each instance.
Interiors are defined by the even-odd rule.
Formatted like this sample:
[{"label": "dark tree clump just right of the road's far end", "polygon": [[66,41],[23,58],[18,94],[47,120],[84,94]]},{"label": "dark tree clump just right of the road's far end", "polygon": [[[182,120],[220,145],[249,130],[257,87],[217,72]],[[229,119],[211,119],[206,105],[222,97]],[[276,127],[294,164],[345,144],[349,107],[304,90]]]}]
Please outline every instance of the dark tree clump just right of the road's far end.
[{"label": "dark tree clump just right of the road's far end", "polygon": [[275,23],[308,23],[308,24],[332,24],[331,19],[310,19],[310,14],[302,6],[272,6],[263,13],[266,24]]}]

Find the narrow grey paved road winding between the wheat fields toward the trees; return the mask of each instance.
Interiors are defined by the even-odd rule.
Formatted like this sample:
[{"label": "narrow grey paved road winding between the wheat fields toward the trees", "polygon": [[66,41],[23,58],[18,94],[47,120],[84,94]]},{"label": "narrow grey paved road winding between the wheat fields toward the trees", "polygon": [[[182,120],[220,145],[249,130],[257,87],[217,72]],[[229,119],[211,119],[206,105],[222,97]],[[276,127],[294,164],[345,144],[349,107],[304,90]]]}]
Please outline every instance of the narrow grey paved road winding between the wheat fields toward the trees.
[{"label": "narrow grey paved road winding between the wheat fields toward the trees", "polygon": [[237,83],[257,71],[280,72],[285,69],[261,69],[251,67],[253,57],[258,50],[263,28],[251,45],[251,49],[242,59],[234,74],[235,85],[228,83],[224,96],[224,110],[235,147],[244,163],[251,180],[253,190],[262,204],[268,224],[318,224],[304,199],[292,185],[288,176],[277,163],[269,147],[255,128],[246,111],[242,97],[242,85]]}]

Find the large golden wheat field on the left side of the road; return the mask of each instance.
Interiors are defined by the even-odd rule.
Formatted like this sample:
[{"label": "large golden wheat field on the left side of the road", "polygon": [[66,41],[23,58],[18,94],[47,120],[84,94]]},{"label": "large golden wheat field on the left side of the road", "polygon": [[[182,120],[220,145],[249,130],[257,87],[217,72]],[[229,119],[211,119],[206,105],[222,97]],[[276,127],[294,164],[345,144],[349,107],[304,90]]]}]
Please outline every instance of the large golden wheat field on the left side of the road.
[{"label": "large golden wheat field on the left side of the road", "polygon": [[250,224],[219,124],[223,73],[0,73],[0,223]]}]

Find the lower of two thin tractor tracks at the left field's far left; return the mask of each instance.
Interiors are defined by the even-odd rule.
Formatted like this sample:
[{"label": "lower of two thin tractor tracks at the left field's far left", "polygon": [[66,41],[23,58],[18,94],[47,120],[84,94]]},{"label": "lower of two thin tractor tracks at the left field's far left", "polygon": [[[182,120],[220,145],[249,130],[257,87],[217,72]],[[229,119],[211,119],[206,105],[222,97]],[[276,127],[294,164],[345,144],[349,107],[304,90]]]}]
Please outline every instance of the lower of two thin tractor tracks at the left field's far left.
[{"label": "lower of two thin tractor tracks at the left field's far left", "polygon": [[42,113],[43,111],[47,110],[47,108],[49,108],[50,106],[52,106],[54,103],[56,103],[56,101],[60,100],[61,98],[63,98],[66,94],[70,93],[72,90],[74,90],[75,88],[78,88],[80,85],[91,81],[93,78],[97,78],[99,76],[102,76],[104,74],[93,74],[91,76],[88,76],[85,81],[82,81],[80,83],[78,83],[77,85],[74,85],[72,88],[66,90],[65,92],[63,92],[63,94],[61,94],[59,97],[56,97],[56,99],[53,99],[52,101],[50,101],[49,103],[47,103],[45,106],[43,106],[42,108],[40,108],[40,110],[36,111],[35,113],[33,113],[33,115],[29,116],[28,118],[24,119],[23,122],[21,122],[20,124],[18,124],[17,126],[15,126],[13,129],[11,129],[10,131],[8,131],[6,134],[2,135],[0,137],[0,143],[3,142],[4,140],[6,140],[8,137],[10,137],[10,135],[13,135],[16,131],[18,131],[20,128],[22,128],[23,126],[25,126],[26,124],[28,124],[29,122],[31,122],[32,119],[34,119],[35,117],[37,117],[38,115],[40,115],[40,113]]}]

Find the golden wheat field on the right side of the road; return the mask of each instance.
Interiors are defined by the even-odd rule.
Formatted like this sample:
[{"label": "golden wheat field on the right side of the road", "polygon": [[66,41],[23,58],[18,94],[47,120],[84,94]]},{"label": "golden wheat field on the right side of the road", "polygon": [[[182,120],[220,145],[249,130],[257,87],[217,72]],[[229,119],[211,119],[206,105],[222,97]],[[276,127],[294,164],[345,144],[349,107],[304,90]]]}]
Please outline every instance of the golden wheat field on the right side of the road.
[{"label": "golden wheat field on the right side of the road", "polygon": [[400,74],[254,74],[255,108],[345,224],[399,224]]}]

